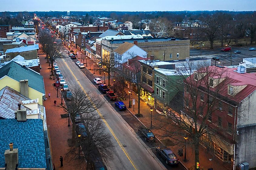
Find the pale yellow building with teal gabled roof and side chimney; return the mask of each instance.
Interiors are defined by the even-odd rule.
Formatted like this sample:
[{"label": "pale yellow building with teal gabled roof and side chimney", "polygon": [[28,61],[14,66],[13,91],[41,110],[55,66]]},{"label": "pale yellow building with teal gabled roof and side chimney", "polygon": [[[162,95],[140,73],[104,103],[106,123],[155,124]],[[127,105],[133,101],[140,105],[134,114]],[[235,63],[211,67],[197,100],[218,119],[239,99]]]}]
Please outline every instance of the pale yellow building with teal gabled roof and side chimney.
[{"label": "pale yellow building with teal gabled roof and side chimney", "polygon": [[30,99],[38,99],[43,105],[45,85],[43,77],[27,67],[14,61],[0,68],[0,89],[11,87]]}]

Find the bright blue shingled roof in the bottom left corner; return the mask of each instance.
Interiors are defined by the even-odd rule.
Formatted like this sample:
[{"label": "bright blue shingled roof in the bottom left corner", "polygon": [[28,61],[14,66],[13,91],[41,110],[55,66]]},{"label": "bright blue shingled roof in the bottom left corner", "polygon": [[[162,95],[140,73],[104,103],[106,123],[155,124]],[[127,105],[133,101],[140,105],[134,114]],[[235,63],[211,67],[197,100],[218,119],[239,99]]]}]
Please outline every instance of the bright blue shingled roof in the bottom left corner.
[{"label": "bright blue shingled roof in the bottom left corner", "polygon": [[42,119],[0,119],[0,168],[5,167],[9,143],[18,149],[18,168],[45,168],[45,142]]}]

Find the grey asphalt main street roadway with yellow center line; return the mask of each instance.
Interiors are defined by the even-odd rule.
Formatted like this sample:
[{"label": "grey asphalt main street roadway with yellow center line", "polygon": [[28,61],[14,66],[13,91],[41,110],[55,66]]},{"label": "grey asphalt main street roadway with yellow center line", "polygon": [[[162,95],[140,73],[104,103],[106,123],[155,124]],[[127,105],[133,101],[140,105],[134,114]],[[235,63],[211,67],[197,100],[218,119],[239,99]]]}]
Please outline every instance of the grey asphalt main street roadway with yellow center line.
[{"label": "grey asphalt main street roadway with yellow center line", "polygon": [[56,62],[69,87],[80,86],[91,95],[101,96],[99,100],[104,102],[98,113],[105,117],[106,132],[111,134],[114,144],[113,157],[105,162],[108,169],[166,169],[67,54],[63,53]]}]

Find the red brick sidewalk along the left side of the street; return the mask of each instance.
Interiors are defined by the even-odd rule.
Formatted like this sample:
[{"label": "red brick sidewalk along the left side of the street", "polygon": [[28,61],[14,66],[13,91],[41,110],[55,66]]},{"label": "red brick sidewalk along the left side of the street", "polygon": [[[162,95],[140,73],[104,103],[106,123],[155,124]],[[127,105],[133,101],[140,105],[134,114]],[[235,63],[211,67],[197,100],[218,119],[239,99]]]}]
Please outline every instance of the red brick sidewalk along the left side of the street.
[{"label": "red brick sidewalk along the left side of the street", "polygon": [[[43,53],[42,50],[38,51],[38,54]],[[52,162],[55,164],[55,169],[62,170],[72,170],[72,169],[80,169],[77,167],[80,164],[78,161],[75,162],[67,162],[65,159],[65,155],[69,150],[68,146],[68,138],[72,137],[72,126],[68,127],[68,118],[61,118],[61,114],[65,114],[63,109],[58,107],[61,103],[61,93],[58,92],[53,86],[54,80],[49,78],[51,74],[51,70],[48,69],[49,64],[46,63],[47,59],[45,59],[45,55],[38,55],[40,58],[40,64],[42,69],[40,70],[40,74],[44,77],[45,83],[45,93],[47,96],[47,100],[44,101],[45,111],[46,111],[46,119],[47,119],[47,127],[51,145],[52,152]],[[48,98],[48,93],[51,93],[51,98]],[[54,100],[57,101],[57,105],[54,106]],[[63,167],[60,168],[60,156],[63,156]],[[82,169],[82,168],[81,168]]]}]

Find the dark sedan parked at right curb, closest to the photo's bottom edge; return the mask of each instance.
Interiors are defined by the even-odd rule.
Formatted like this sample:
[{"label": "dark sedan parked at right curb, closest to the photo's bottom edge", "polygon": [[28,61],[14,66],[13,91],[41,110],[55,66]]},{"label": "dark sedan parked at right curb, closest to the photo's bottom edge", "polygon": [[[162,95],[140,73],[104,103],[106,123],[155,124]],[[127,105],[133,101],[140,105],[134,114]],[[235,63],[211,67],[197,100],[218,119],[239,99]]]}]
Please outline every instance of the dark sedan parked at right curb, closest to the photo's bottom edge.
[{"label": "dark sedan parked at right curb, closest to the photo's bottom edge", "polygon": [[160,155],[164,160],[166,164],[169,165],[175,165],[180,163],[180,160],[177,158],[177,156],[171,151],[170,148],[156,148],[157,154]]}]

